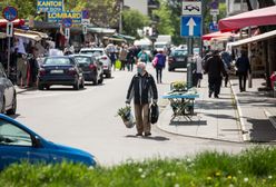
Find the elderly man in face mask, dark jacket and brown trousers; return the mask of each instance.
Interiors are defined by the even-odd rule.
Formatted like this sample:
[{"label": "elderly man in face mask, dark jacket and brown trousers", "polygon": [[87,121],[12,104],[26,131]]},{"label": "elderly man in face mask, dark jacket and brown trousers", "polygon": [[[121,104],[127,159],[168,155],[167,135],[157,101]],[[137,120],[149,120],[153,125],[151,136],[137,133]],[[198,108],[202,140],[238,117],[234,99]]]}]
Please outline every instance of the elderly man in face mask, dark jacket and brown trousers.
[{"label": "elderly man in face mask, dark jacket and brown trousers", "polygon": [[147,72],[146,63],[137,63],[137,73],[134,76],[127,92],[126,104],[130,105],[134,98],[136,117],[136,136],[150,136],[149,105],[157,104],[158,92],[154,77]]}]

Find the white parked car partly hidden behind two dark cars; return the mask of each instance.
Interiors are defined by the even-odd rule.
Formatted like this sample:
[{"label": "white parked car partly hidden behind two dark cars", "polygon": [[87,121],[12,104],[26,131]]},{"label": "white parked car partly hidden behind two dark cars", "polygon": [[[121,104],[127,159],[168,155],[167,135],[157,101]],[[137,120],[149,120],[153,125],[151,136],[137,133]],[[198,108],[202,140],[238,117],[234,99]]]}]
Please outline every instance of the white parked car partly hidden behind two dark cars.
[{"label": "white parked car partly hidden behind two dark cars", "polygon": [[81,55],[92,55],[96,57],[103,66],[103,75],[107,78],[111,77],[111,60],[105,51],[105,48],[82,48],[80,49]]}]

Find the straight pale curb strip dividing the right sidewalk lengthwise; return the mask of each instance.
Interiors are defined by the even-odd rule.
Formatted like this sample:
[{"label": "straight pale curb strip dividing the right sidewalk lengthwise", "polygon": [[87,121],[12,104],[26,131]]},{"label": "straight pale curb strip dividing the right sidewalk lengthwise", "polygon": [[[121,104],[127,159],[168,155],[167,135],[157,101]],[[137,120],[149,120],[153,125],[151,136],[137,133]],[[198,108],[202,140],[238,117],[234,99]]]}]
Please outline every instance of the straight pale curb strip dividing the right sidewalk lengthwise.
[{"label": "straight pale curb strip dividing the right sidewalk lengthwise", "polygon": [[236,91],[235,91],[234,88],[233,88],[233,82],[231,82],[231,80],[229,80],[229,82],[230,82],[231,94],[233,94],[233,96],[234,96],[235,104],[236,104],[237,111],[238,111],[238,119],[239,119],[240,129],[241,129],[241,132],[243,132],[243,140],[244,140],[244,141],[250,141],[249,132],[248,132],[248,130],[246,130],[246,127],[245,127],[244,115],[243,115],[243,111],[241,111],[241,108],[240,108],[240,104],[239,104],[239,101],[238,101],[237,94],[236,94]]}]

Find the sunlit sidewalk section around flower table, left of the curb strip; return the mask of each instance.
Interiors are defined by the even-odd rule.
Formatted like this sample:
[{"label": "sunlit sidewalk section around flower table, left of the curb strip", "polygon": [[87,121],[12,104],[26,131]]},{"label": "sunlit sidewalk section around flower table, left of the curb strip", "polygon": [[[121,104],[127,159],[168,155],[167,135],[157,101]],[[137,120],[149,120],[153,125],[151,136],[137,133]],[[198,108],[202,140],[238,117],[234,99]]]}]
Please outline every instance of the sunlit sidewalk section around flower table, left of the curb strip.
[{"label": "sunlit sidewalk section around flower table, left of the curb strip", "polygon": [[241,128],[230,87],[221,87],[219,99],[209,98],[207,79],[204,76],[201,88],[197,88],[200,96],[196,99],[196,116],[193,116],[193,121],[184,117],[170,121],[172,110],[168,105],[157,126],[177,135],[241,142]]}]

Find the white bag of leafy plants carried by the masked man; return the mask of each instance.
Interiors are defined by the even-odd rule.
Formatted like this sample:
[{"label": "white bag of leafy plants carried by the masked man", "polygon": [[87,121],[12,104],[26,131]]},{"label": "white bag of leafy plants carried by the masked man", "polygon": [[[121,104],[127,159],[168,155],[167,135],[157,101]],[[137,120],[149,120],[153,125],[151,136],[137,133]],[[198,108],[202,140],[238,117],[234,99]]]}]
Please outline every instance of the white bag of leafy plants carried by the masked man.
[{"label": "white bag of leafy plants carried by the masked man", "polygon": [[135,126],[136,121],[131,112],[130,106],[126,106],[126,107],[118,109],[117,115],[121,117],[127,128],[132,128]]}]

